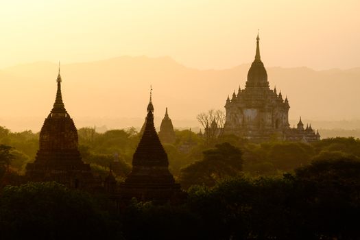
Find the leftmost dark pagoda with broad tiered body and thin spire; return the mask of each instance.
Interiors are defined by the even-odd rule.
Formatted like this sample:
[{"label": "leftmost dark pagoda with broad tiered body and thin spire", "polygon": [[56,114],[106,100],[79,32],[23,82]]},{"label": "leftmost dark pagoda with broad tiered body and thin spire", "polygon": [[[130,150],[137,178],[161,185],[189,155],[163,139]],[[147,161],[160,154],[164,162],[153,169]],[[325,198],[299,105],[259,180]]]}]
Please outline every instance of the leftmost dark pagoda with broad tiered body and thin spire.
[{"label": "leftmost dark pagoda with broad tiered body and thin spire", "polygon": [[56,82],[55,103],[41,128],[35,161],[26,166],[26,178],[34,182],[56,181],[67,187],[89,188],[94,178],[90,165],[82,161],[77,149],[77,130],[62,101],[60,68]]}]

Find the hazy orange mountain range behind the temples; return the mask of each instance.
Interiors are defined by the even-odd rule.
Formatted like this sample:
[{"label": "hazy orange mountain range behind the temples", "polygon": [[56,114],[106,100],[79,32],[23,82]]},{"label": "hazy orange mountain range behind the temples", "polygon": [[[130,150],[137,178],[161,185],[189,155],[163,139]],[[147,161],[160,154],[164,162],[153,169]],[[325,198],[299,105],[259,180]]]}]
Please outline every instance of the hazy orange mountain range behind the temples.
[{"label": "hazy orange mountain range behind the temples", "polygon": [[[271,88],[276,85],[283,97],[288,96],[290,119],[300,115],[313,120],[360,119],[356,106],[360,102],[360,68],[314,71],[307,67],[267,67],[266,59],[263,62]],[[199,112],[224,109],[226,97],[231,97],[233,90],[237,93],[239,85],[244,88],[249,67],[241,64],[224,70],[198,70],[169,57],[146,56],[62,64],[62,92],[75,123],[88,119],[87,125],[99,125],[99,119],[104,118],[122,119],[117,126],[139,126],[152,84],[158,119],[169,107],[175,125],[177,121],[181,125],[182,120],[196,124]],[[39,129],[55,98],[57,74],[58,64],[51,62],[1,69],[0,121],[5,123],[0,125],[12,128],[8,117],[22,119],[24,124],[28,117],[40,118]],[[27,128],[36,126],[23,126]]]}]

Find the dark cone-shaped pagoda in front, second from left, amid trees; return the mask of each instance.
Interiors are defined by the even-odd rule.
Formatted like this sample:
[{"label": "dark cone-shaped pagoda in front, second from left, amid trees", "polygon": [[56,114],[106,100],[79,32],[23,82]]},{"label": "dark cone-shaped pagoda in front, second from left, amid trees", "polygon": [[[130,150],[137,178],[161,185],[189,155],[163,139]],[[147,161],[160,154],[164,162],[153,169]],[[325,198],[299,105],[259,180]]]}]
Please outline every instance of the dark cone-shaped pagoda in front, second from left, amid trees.
[{"label": "dark cone-shaped pagoda in front, second from left, amid trees", "polygon": [[135,197],[155,203],[178,202],[184,197],[169,171],[169,160],[154,127],[152,95],[147,106],[145,129],[132,158],[132,171],[119,186],[122,201]]}]

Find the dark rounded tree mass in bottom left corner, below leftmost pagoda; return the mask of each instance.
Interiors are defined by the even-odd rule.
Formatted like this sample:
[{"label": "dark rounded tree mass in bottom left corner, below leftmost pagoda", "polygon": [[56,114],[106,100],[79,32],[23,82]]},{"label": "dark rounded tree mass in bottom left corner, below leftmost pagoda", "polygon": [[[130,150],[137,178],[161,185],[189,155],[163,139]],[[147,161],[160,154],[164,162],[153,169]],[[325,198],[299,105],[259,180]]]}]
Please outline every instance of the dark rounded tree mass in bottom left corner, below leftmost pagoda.
[{"label": "dark rounded tree mass in bottom left corner, below leftmost pagoda", "polygon": [[110,239],[106,213],[88,193],[56,182],[7,186],[0,198],[1,239]]}]

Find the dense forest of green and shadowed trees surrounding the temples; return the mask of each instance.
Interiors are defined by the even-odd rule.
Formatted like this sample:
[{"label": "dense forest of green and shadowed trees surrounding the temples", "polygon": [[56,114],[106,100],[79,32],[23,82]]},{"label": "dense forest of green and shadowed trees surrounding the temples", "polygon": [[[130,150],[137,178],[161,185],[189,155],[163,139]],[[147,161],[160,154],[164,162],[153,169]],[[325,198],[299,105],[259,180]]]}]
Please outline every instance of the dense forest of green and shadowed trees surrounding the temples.
[{"label": "dense forest of green and shadowed trees surrounding the temples", "polygon": [[[134,128],[80,128],[84,162],[101,177],[117,162],[131,170]],[[0,175],[19,174],[38,134],[0,128]],[[359,239],[360,140],[249,143],[221,136],[210,145],[190,130],[164,144],[169,169],[188,193],[180,205],[136,202],[119,211],[104,195],[56,182],[7,186],[0,197],[3,239]]]}]

